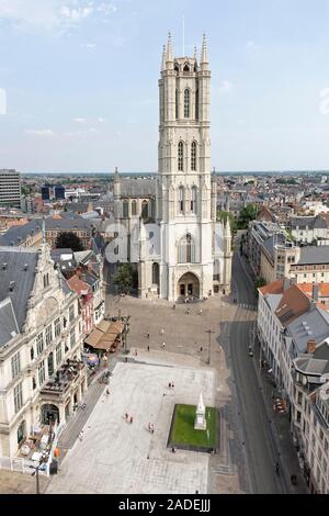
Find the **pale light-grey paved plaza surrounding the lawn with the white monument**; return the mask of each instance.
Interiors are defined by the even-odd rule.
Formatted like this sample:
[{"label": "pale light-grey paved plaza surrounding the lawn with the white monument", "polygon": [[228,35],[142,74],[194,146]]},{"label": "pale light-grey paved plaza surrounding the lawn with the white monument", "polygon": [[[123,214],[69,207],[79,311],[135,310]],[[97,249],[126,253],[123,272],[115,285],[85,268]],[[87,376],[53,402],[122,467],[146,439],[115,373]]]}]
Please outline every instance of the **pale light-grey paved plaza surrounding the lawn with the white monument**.
[{"label": "pale light-grey paved plaza surrounding the lawn with the white monument", "polygon": [[[197,404],[202,392],[205,404],[214,405],[215,371],[172,366],[171,354],[143,355],[140,362],[116,364],[110,395],[104,389],[82,441],[67,455],[47,493],[208,492],[209,456],[172,453],[167,440],[175,403]],[[125,413],[133,416],[132,424]],[[155,425],[154,434],[148,423]]]}]

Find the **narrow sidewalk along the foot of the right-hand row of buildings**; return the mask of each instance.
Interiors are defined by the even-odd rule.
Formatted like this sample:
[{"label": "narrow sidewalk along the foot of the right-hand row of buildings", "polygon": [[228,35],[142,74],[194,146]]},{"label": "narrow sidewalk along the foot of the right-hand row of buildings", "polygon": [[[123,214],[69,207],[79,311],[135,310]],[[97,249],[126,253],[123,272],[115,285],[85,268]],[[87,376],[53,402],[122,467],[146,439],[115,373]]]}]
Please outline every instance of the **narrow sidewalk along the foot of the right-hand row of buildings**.
[{"label": "narrow sidewalk along the foot of the right-hand row of buildings", "polygon": [[[257,375],[269,416],[269,424],[272,427],[272,435],[276,449],[279,450],[277,462],[281,474],[283,475],[285,491],[291,494],[307,494],[307,485],[303,475],[303,471],[299,467],[297,452],[293,444],[293,437],[291,435],[288,414],[280,414],[273,410],[273,385],[266,377],[266,370],[263,368],[260,370],[259,367],[260,346],[256,345],[253,350],[253,363],[257,368]],[[292,484],[292,474],[297,476],[297,485]]]}]

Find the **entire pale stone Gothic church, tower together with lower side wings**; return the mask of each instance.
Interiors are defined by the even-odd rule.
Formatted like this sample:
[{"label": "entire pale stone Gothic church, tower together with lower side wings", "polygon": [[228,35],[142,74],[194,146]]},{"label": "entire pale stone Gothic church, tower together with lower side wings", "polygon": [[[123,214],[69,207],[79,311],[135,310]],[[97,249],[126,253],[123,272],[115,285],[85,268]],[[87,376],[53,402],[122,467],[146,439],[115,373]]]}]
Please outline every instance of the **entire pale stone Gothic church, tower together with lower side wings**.
[{"label": "entire pale stone Gothic church, tower together with lower side wings", "polygon": [[[138,229],[143,299],[206,299],[230,292],[231,233],[216,223],[217,184],[211,173],[211,71],[204,36],[201,60],[173,57],[163,48],[159,80],[159,172],[157,179],[114,180],[114,217],[129,242]],[[157,234],[156,245],[152,243]],[[138,256],[136,259],[135,257]]]}]

